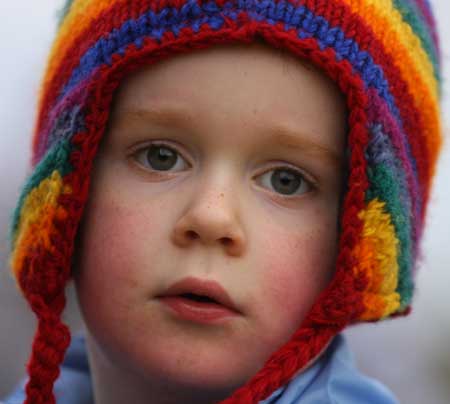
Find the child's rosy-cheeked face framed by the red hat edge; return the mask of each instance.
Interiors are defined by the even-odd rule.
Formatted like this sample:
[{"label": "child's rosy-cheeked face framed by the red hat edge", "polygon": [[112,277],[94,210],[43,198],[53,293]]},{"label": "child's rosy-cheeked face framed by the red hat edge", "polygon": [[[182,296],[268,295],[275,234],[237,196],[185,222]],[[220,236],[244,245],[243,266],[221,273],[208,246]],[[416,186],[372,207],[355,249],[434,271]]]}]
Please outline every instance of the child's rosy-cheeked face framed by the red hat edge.
[{"label": "child's rosy-cheeked face framed by the red hat edge", "polygon": [[[345,127],[328,78],[259,44],[122,83],[75,269],[102,371],[228,392],[291,337],[334,273]],[[238,312],[158,298],[187,277]]]}]

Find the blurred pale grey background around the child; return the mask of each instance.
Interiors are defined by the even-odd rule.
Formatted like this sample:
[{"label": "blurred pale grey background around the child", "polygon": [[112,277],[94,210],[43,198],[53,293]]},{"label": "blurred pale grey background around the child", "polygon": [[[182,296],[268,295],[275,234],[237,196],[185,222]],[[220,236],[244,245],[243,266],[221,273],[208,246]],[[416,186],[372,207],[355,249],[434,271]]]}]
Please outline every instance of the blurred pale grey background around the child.
[{"label": "blurred pale grey background around the child", "polygon": [[[0,0],[0,396],[25,373],[36,326],[7,264],[7,223],[25,178],[38,83],[62,1]],[[450,113],[450,3],[434,0],[444,57],[445,136]],[[438,166],[428,209],[413,313],[345,331],[360,368],[389,386],[402,403],[450,403],[450,151]],[[82,327],[72,285],[63,316]]]}]

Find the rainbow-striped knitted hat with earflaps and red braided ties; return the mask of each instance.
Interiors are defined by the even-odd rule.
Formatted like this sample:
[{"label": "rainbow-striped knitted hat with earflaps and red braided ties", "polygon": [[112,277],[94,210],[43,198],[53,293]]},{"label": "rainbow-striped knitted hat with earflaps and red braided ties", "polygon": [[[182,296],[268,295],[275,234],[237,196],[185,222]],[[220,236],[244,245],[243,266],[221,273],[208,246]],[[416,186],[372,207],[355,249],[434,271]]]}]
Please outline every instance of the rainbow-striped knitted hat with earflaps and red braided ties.
[{"label": "rainbow-striped knitted hat with earflaps and red braided ties", "polygon": [[348,183],[335,277],[292,337],[223,403],[256,403],[349,324],[407,315],[442,144],[440,54],[426,0],[73,0],[42,82],[11,267],[38,317],[26,403],[55,403],[61,322],[90,171],[114,90],[177,53],[256,38],[314,63],[347,100]]}]

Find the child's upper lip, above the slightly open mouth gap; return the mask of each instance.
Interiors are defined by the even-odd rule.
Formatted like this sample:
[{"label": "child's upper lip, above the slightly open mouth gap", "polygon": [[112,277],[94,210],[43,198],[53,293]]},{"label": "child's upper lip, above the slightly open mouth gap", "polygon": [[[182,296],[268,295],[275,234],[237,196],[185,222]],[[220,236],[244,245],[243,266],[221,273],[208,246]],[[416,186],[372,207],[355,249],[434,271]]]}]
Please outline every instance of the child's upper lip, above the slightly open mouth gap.
[{"label": "child's upper lip, above the slightly open mouth gap", "polygon": [[227,291],[216,281],[208,279],[198,279],[194,277],[183,278],[169,286],[157,297],[178,296],[186,293],[207,296],[221,305],[239,312]]}]

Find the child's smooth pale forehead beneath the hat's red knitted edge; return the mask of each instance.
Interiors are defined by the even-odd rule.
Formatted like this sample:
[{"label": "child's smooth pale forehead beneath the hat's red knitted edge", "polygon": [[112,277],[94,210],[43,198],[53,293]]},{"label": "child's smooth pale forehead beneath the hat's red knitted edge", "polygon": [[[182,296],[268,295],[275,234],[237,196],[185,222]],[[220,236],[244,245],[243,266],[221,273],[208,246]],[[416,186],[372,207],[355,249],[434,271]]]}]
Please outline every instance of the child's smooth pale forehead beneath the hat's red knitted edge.
[{"label": "child's smooth pale forehead beneath the hat's red knitted edge", "polygon": [[337,155],[345,139],[345,98],[337,85],[311,64],[260,43],[215,46],[146,66],[121,83],[113,113],[119,124],[204,125],[228,136],[278,128],[279,143],[309,137]]}]

